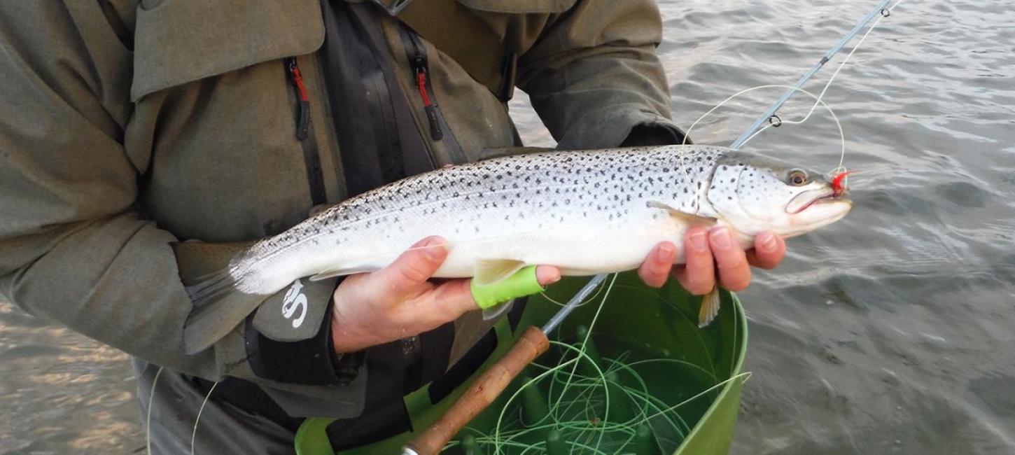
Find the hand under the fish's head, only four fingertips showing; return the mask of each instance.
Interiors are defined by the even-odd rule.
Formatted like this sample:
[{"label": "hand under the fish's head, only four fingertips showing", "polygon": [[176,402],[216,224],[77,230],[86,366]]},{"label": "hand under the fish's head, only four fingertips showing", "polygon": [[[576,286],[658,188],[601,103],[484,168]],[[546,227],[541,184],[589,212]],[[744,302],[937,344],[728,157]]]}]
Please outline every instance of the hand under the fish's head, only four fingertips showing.
[{"label": "hand under the fish's head, only four fingertips showing", "polygon": [[701,226],[687,230],[684,235],[684,265],[673,267],[677,249],[671,242],[662,242],[649,253],[638,268],[638,276],[653,287],[660,287],[672,275],[695,296],[708,294],[718,281],[730,290],[743,290],[751,282],[751,269],[772,269],[786,256],[786,242],[773,233],[765,232],[754,238],[754,248],[743,251],[729,228],[708,231]]}]

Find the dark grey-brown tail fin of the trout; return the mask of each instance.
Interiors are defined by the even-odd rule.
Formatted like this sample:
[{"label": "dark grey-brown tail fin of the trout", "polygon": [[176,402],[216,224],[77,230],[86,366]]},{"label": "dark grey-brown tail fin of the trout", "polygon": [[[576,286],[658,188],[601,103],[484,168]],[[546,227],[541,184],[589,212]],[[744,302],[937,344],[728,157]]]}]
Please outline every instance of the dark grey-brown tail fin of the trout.
[{"label": "dark grey-brown tail fin of the trout", "polygon": [[194,310],[184,323],[184,352],[193,355],[220,340],[257,309],[267,295],[245,294],[235,288],[229,273],[232,258],[252,244],[172,244],[180,279]]}]

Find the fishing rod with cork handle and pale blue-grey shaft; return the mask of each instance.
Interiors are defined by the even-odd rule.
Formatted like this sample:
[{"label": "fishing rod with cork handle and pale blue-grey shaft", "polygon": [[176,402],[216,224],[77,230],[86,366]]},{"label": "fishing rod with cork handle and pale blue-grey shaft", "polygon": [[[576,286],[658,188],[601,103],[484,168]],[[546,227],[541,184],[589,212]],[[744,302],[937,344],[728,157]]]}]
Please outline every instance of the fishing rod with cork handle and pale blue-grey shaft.
[{"label": "fishing rod with cork handle and pale blue-grey shaft", "polygon": [[[832,57],[841,52],[845,45],[853,41],[860,30],[870,23],[874,17],[879,14],[885,17],[888,16],[890,11],[888,4],[890,2],[891,0],[881,0],[876,7],[864,15],[853,29],[842,36],[838,43],[835,43],[835,46],[832,46],[821,57],[821,60],[817,64],[804,73],[792,88],[783,93],[737,140],[733,141],[730,148],[740,148],[765,122],[773,122],[774,125],[774,122],[779,121],[775,113],[800,90],[804,83],[814,77]],[[511,381],[522,373],[525,367],[549,349],[550,341],[547,334],[557,328],[576,308],[580,307],[585,299],[607,276],[607,273],[594,276],[543,327],[529,327],[526,329],[522,333],[522,336],[515,342],[515,345],[512,346],[511,350],[490,366],[488,370],[483,372],[441,418],[406,444],[402,455],[435,455],[439,453],[445,445],[448,444],[448,441],[451,441],[462,428],[468,425],[469,421],[472,421],[486,406],[489,406],[507,387]]]}]

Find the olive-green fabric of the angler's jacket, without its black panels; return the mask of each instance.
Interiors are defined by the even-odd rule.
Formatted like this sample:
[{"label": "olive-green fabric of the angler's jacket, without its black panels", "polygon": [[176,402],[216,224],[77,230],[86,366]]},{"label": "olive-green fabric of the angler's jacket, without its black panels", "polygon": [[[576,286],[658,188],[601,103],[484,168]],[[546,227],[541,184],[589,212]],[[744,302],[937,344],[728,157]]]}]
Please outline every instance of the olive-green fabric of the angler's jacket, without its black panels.
[{"label": "olive-green fabric of the angler's jacket, without its black panels", "polygon": [[[459,2],[493,30],[521,30],[518,86],[560,147],[615,146],[636,125],[670,125],[651,1]],[[506,106],[424,43],[458,151],[432,140],[397,21],[379,26],[433,166],[518,145]],[[345,197],[324,35],[317,0],[0,3],[0,295],[176,371],[356,404],[343,386],[258,377],[244,325],[185,355],[192,303],[170,246],[256,240],[307,217],[308,146],[327,202]],[[302,141],[289,57],[310,101]]]}]

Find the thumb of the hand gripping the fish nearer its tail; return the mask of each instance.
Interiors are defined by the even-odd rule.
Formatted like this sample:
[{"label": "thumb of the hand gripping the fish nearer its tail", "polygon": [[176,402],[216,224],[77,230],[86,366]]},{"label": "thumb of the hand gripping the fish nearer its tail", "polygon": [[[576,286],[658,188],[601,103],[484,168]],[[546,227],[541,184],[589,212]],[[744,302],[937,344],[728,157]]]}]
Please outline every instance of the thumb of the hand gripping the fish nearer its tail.
[{"label": "thumb of the hand gripping the fish nearer its tail", "polygon": [[387,286],[397,298],[418,291],[448,257],[448,247],[439,237],[427,237],[405,253],[391,265],[370,274],[374,283]]}]

